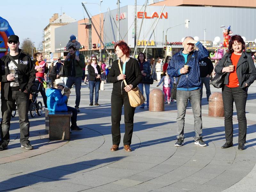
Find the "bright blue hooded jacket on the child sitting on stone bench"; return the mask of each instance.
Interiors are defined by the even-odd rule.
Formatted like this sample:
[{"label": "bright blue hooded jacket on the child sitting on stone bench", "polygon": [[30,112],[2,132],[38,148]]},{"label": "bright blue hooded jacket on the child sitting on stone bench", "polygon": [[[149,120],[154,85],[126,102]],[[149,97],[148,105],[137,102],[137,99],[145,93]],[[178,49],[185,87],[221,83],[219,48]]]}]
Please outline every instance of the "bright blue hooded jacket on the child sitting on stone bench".
[{"label": "bright blue hooded jacket on the child sitting on stone bench", "polygon": [[47,96],[47,107],[49,111],[68,111],[67,96],[61,94],[60,89],[50,88],[45,92]]}]

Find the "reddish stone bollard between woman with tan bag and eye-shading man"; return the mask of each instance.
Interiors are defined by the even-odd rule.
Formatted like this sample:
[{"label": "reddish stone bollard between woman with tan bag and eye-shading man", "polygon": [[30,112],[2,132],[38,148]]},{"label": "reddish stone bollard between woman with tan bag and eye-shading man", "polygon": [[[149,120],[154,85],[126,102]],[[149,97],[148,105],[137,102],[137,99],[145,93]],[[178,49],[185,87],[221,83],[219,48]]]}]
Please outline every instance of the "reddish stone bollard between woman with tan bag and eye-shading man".
[{"label": "reddish stone bollard between woman with tan bag and eye-shading man", "polygon": [[149,93],[149,111],[164,111],[164,92],[161,89]]}]

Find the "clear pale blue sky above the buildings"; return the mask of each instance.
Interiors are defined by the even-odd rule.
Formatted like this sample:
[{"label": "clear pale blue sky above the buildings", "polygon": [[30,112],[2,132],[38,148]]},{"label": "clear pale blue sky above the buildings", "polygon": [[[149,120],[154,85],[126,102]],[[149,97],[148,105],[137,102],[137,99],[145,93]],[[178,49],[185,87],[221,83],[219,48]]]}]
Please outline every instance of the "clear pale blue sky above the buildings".
[{"label": "clear pale blue sky above the buildings", "polygon": [[[76,20],[87,17],[83,11],[82,2],[100,3],[100,0],[1,0],[0,16],[8,20],[14,33],[23,39],[31,38],[35,46],[43,39],[43,30],[49,24],[49,19],[53,13],[59,13],[60,10]],[[125,5],[134,5],[134,0],[120,0],[120,7]],[[101,3],[101,12],[107,12],[117,8],[117,0],[103,0]],[[143,5],[145,0],[137,0],[137,5]],[[96,4],[85,4],[92,15],[100,13],[100,8]]]}]

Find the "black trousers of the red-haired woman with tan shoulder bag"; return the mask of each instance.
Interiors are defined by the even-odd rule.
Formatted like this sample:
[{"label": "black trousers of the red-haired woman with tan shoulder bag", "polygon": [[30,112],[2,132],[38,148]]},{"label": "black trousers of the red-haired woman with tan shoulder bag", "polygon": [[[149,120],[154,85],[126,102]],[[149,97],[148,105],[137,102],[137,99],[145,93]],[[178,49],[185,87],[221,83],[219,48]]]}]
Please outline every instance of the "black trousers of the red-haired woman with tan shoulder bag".
[{"label": "black trousers of the red-haired woman with tan shoulder bag", "polygon": [[132,143],[132,132],[133,132],[133,117],[135,108],[131,107],[128,94],[111,94],[111,132],[113,145],[120,144],[121,133],[120,133],[120,121],[122,115],[122,107],[124,105],[124,145],[131,145]]}]

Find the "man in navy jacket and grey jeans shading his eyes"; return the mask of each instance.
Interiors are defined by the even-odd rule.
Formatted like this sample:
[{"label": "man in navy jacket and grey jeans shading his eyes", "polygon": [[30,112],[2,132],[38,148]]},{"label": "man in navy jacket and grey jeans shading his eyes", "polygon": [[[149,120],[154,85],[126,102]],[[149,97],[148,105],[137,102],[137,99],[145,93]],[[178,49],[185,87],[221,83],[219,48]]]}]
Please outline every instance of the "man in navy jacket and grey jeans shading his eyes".
[{"label": "man in navy jacket and grey jeans shading his eyes", "polygon": [[[194,46],[198,51],[194,51]],[[195,144],[206,146],[202,139],[202,116],[201,116],[201,100],[200,100],[200,68],[199,62],[208,57],[208,51],[204,46],[194,40],[193,37],[187,36],[180,52],[176,53],[169,62],[167,73],[170,77],[176,77],[177,82],[177,142],[175,146],[181,146],[184,142],[184,123],[188,99],[191,102],[194,115],[194,130],[196,133]],[[188,65],[188,69],[184,67]],[[178,78],[177,78],[178,77]]]}]

